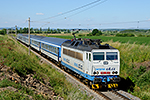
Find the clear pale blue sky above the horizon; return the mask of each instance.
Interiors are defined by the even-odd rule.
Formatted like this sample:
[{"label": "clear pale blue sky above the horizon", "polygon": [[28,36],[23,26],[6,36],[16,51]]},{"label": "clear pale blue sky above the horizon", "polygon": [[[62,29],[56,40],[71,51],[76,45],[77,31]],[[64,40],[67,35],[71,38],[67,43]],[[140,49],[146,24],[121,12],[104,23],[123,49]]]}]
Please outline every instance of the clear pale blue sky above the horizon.
[{"label": "clear pale blue sky above the horizon", "polygon": [[[93,3],[96,2],[96,3]],[[0,0],[0,27],[150,29],[150,0]]]}]

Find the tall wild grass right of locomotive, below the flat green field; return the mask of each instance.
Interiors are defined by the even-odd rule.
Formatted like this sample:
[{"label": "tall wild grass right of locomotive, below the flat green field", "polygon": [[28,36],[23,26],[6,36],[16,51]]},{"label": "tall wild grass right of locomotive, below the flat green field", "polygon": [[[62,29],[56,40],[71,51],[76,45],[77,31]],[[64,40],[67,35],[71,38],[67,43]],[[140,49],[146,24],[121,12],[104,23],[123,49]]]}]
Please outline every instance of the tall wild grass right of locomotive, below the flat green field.
[{"label": "tall wild grass right of locomotive, below the flat green field", "polygon": [[150,61],[150,46],[112,41],[108,43],[120,51],[120,76],[129,78],[135,84],[134,91],[128,91],[143,100],[150,100],[150,70],[146,66],[136,66],[137,63]]}]

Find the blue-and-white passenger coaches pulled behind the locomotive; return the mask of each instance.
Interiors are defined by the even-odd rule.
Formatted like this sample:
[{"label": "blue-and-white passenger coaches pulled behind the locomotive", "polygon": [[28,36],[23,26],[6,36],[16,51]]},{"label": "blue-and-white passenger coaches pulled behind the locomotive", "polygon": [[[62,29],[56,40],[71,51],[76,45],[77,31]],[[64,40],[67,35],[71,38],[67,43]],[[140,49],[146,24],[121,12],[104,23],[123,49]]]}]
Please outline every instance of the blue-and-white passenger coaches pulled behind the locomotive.
[{"label": "blue-and-white passenger coaches pulled behind the locomotive", "polygon": [[[17,39],[29,45],[27,34],[18,34]],[[61,61],[61,45],[66,41],[70,40],[30,35],[30,46],[57,62]]]}]

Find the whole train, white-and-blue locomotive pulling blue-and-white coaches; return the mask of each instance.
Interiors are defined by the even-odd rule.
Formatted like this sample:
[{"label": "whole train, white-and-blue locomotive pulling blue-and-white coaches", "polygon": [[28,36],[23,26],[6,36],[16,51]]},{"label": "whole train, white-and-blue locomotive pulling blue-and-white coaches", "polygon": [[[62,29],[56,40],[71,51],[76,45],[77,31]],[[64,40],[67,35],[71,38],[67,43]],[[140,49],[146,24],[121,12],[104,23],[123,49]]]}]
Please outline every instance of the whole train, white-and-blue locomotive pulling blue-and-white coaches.
[{"label": "whole train, white-and-blue locomotive pulling blue-and-white coaches", "polygon": [[[74,35],[74,34],[73,34]],[[118,88],[120,52],[101,39],[61,39],[17,34],[17,40],[69,69],[92,89]]]}]

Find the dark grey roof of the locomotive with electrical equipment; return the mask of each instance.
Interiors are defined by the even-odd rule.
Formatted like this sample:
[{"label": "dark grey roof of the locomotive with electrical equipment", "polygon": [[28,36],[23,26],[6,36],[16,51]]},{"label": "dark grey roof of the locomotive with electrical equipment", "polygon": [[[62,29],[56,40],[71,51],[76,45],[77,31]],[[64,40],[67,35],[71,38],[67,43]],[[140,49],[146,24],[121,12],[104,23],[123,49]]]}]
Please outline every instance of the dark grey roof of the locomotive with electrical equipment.
[{"label": "dark grey roof of the locomotive with electrical equipment", "polygon": [[94,42],[89,43],[83,40],[73,40],[73,41],[67,41],[63,43],[64,46],[75,48],[82,51],[92,51],[93,49],[116,49],[109,44],[101,45],[96,44]]}]

